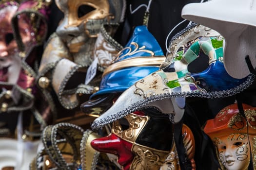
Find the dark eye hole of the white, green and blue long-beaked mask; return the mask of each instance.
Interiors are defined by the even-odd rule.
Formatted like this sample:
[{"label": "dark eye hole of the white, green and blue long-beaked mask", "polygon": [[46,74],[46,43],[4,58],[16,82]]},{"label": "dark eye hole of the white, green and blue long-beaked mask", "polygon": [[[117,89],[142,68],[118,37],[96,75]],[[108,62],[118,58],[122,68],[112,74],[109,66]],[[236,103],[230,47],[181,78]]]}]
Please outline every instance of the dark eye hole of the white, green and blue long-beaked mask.
[{"label": "dark eye hole of the white, green and blue long-beaked mask", "polygon": [[199,53],[199,57],[188,65],[188,71],[191,73],[202,72],[209,67],[209,57],[203,52]]}]

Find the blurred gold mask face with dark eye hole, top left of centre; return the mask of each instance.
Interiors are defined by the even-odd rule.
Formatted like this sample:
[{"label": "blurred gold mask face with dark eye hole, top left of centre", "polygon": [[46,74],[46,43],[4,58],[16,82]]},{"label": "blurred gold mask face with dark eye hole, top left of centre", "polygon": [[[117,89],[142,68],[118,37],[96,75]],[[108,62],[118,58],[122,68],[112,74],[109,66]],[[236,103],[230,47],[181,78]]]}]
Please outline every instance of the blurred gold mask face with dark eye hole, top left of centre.
[{"label": "blurred gold mask face with dark eye hole, top left of centre", "polygon": [[121,22],[125,11],[124,0],[56,0],[56,4],[64,13],[56,33],[71,53],[83,51],[87,59],[92,55],[101,24]]}]

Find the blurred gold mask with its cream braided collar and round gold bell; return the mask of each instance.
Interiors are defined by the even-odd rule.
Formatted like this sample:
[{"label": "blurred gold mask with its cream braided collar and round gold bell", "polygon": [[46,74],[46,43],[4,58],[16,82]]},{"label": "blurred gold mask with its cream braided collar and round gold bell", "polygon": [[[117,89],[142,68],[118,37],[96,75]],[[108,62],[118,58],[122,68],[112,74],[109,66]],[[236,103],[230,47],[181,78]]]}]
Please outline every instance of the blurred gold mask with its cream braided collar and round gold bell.
[{"label": "blurred gold mask with its cream braided collar and round gold bell", "polygon": [[[102,64],[100,52],[106,55],[122,48],[112,36],[123,21],[125,1],[56,0],[56,4],[64,18],[48,40],[37,80],[43,91],[51,91],[52,86],[65,109],[73,109],[79,105],[79,98],[92,94],[100,82],[101,74],[95,72],[96,76],[84,84],[94,56],[99,55]],[[101,64],[98,70],[103,71],[106,66],[102,68]]]}]

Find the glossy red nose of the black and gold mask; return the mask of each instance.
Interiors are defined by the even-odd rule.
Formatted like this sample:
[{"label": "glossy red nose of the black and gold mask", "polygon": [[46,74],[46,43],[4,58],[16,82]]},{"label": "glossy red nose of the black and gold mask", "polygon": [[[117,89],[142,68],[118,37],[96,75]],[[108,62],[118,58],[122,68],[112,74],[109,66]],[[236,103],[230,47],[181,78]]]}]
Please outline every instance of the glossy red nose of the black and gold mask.
[{"label": "glossy red nose of the black and gold mask", "polygon": [[99,152],[118,155],[118,163],[121,166],[127,165],[133,160],[133,153],[131,151],[132,143],[127,142],[114,134],[94,139],[91,142],[91,146]]}]

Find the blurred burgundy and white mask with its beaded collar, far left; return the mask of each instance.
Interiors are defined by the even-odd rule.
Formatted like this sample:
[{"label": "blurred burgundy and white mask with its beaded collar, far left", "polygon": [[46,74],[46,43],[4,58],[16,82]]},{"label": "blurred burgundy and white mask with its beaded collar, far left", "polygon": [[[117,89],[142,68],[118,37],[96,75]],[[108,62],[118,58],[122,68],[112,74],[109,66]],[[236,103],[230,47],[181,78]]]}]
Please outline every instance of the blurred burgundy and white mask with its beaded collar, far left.
[{"label": "blurred burgundy and white mask with its beaded collar, far left", "polygon": [[[35,85],[35,65],[40,59],[38,46],[47,34],[50,3],[50,0],[0,2],[0,22],[4,26],[0,31],[0,113],[31,109],[40,115],[39,111],[47,107],[43,94]],[[35,106],[37,98],[43,99],[40,99],[40,109]],[[41,117],[39,119],[45,124]]]}]

